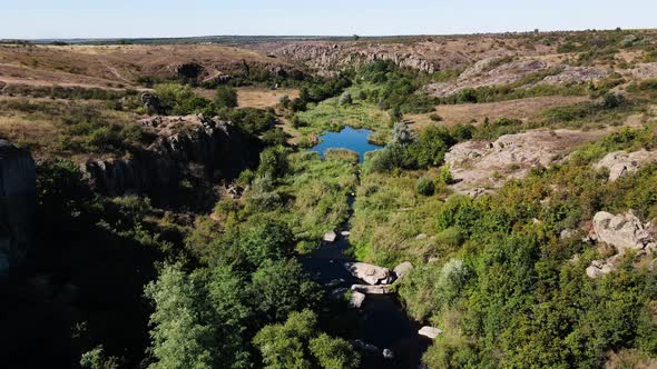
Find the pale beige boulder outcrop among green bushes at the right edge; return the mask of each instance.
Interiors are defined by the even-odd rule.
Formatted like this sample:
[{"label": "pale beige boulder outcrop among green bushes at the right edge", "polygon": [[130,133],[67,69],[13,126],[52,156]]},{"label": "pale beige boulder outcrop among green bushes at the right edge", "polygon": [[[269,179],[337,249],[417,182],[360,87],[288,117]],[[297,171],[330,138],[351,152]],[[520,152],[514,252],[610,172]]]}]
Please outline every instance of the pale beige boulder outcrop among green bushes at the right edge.
[{"label": "pale beige boulder outcrop among green bushes at the right edge", "polygon": [[617,253],[605,260],[595,260],[586,269],[587,276],[597,278],[614,271],[620,258],[634,250],[645,255],[657,249],[655,238],[631,212],[612,215],[600,211],[594,217],[595,239],[616,248]]}]

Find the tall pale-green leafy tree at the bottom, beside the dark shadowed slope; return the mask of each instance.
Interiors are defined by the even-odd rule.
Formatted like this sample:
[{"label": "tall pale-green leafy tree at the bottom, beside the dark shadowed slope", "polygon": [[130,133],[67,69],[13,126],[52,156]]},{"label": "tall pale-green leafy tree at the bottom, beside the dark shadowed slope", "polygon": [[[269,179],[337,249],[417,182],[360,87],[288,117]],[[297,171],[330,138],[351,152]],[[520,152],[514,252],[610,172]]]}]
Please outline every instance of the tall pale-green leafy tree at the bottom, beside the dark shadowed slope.
[{"label": "tall pale-green leafy tree at the bottom, beside the dark shadowed slope", "polygon": [[243,330],[251,310],[245,282],[227,267],[189,276],[165,266],[146,287],[150,316],[150,368],[249,368]]}]

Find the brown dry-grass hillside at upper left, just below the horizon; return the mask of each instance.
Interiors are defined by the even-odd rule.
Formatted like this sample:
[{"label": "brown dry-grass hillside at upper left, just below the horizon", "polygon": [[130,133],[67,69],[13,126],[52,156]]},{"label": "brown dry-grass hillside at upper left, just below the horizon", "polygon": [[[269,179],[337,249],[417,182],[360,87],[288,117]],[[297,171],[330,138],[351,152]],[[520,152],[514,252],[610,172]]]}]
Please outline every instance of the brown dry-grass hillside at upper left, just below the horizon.
[{"label": "brown dry-grass hillside at upper left, just below the horizon", "polygon": [[255,51],[226,46],[0,46],[0,81],[137,87],[138,77],[175,77],[175,67],[187,62],[204,66],[204,76],[241,71],[244,62],[284,64]]}]

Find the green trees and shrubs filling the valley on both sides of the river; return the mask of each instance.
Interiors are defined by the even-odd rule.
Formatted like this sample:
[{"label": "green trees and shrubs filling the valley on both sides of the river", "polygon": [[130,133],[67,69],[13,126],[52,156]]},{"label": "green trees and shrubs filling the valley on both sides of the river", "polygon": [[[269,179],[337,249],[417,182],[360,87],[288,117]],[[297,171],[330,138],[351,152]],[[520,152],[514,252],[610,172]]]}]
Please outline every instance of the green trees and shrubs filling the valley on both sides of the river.
[{"label": "green trees and shrubs filling the valley on both sides of the river", "polygon": [[[595,48],[589,38],[575,38],[560,48],[581,53],[578,64],[588,66],[618,48],[645,49],[627,36],[607,32]],[[561,36],[542,37],[549,43]],[[345,315],[346,301],[331,300],[302,263],[325,232],[346,221],[357,260],[415,266],[393,288],[409,316],[444,331],[423,357],[429,368],[599,368],[615,356],[630,367],[657,357],[655,262],[628,252],[618,270],[588,278],[586,267],[610,250],[584,238],[600,210],[633,209],[644,221],[657,219],[657,164],[615,182],[592,168],[608,152],[657,149],[654,122],[619,129],[550,168],[537,166],[494,193],[472,198],[450,187],[444,157],[459,142],[537,127],[615,126],[636,112],[654,119],[647,109],[657,99],[654,80],[633,82],[622,94],[609,92],[625,83],[614,78],[597,86],[521,88],[557,72],[442,100],[422,87],[458,73],[390,61],[335,78],[248,69],[228,83],[204,86],[215,89],[209,97],[195,89],[193,73],[166,83],[144,80],[153,83],[159,111],[148,111],[153,107],[131,91],[35,90],[90,101],[1,100],[3,114],[30,127],[52,126],[18,140],[49,159],[38,163],[36,250],[0,281],[7,362],[357,368],[366,358],[347,340],[353,328],[335,319]],[[237,107],[235,86],[267,83],[297,86],[300,97],[271,109]],[[438,103],[548,94],[594,99],[548,109],[538,121],[451,126],[433,113],[432,124],[420,130],[403,122],[404,114],[430,113]],[[134,124],[146,113],[231,120],[258,142],[258,163],[235,178],[235,192],[222,193],[210,213],[178,193],[185,206],[167,210],[145,193],[100,196],[78,163],[53,159],[138,153],[155,139]],[[322,159],[288,144],[282,121],[305,139],[345,126],[373,129],[372,139],[384,147],[362,166],[347,150]],[[2,131],[8,133],[14,134]],[[217,183],[204,180],[182,186],[205,198],[202,190]]]}]

